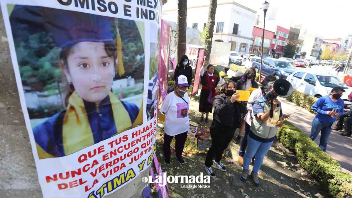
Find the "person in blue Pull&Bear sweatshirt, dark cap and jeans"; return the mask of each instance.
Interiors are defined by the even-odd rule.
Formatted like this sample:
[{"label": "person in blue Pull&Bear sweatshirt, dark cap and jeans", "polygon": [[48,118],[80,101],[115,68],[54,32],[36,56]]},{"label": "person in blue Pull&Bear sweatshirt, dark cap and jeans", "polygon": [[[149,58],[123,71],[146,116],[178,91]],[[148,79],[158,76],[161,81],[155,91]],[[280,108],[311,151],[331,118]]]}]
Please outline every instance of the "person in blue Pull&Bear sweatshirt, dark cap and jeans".
[{"label": "person in blue Pull&Bear sweatshirt, dark cap and jeans", "polygon": [[333,87],[330,95],[319,98],[311,107],[318,113],[312,121],[312,130],[309,137],[314,141],[321,131],[319,147],[323,151],[326,151],[333,122],[344,113],[345,103],[341,99],[344,92],[345,90],[342,87]]}]

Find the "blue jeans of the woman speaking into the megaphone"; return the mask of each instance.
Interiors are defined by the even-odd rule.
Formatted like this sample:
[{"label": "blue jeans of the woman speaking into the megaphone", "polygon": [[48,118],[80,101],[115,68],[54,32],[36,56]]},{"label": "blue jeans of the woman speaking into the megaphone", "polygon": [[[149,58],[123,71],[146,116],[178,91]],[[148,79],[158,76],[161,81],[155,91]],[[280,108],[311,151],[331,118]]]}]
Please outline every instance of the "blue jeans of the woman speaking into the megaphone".
[{"label": "blue jeans of the woman speaking into the megaphone", "polygon": [[248,146],[247,146],[247,151],[243,156],[243,169],[248,170],[249,169],[249,164],[251,163],[252,157],[254,155],[256,156],[256,159],[254,160],[254,166],[253,166],[253,172],[258,173],[260,167],[262,166],[264,156],[266,153],[268,153],[271,144],[274,142],[259,142],[256,140],[253,140],[251,137],[247,137],[248,141]]}]

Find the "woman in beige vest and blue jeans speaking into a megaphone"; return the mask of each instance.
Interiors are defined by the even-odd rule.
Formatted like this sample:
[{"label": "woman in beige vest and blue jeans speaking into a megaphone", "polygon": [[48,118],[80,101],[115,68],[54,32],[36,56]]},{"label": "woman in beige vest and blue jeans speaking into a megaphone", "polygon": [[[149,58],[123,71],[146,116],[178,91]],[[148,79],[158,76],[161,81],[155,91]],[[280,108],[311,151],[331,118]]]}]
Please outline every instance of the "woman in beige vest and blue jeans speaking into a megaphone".
[{"label": "woman in beige vest and blue jeans speaking into a megaphone", "polygon": [[[266,82],[263,86],[263,91],[268,94],[273,90],[274,81]],[[249,165],[252,157],[255,155],[254,166],[251,177],[253,184],[259,186],[258,171],[262,166],[264,156],[269,151],[271,144],[275,140],[277,127],[283,125],[282,111],[279,101],[276,98],[271,98],[269,101],[265,95],[254,100],[252,105],[252,123],[248,133],[248,146],[245,155],[243,156],[243,171],[240,175],[242,181],[246,181],[249,173]],[[271,101],[272,100],[272,101]],[[262,102],[262,103],[260,103]],[[272,104],[273,115],[270,117],[270,103]]]}]

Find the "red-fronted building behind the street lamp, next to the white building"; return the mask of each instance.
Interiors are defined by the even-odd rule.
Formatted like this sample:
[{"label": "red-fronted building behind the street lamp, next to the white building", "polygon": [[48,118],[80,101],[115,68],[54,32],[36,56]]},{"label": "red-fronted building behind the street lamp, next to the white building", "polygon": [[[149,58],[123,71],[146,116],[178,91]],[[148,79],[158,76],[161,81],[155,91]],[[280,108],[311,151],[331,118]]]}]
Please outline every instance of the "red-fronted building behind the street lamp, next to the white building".
[{"label": "red-fronted building behind the street lamp, next to the white building", "polygon": [[[262,48],[262,36],[263,36],[263,28],[258,26],[253,26],[253,33],[252,33],[252,44],[251,44],[251,53],[260,55],[261,48]],[[272,48],[274,45],[271,46],[272,39],[275,36],[275,32],[265,30],[264,32],[264,43],[263,43],[263,56],[270,56]]]}]

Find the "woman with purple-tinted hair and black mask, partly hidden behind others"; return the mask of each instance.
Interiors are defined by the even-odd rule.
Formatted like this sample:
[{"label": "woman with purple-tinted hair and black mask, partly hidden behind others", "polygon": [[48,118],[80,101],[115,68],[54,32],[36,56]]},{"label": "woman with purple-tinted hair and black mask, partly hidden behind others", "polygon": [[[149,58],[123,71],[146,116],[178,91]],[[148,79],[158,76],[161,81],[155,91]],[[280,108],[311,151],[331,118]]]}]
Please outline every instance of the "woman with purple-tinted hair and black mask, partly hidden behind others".
[{"label": "woman with purple-tinted hair and black mask, partly hidden behind others", "polygon": [[[243,74],[242,78],[237,81],[237,90],[244,90],[247,91],[248,88],[253,87],[253,88],[258,88],[259,85],[256,82],[256,70],[254,67],[248,68],[245,73]],[[241,102],[241,101],[238,101]],[[246,104],[243,103],[244,108],[246,109]],[[241,116],[242,120],[246,116],[246,113]],[[235,140],[235,143],[238,144],[240,142],[241,136],[243,134],[243,131],[245,129],[245,122],[241,122],[241,128],[239,130],[238,136]]]}]

